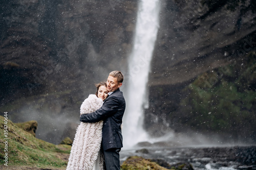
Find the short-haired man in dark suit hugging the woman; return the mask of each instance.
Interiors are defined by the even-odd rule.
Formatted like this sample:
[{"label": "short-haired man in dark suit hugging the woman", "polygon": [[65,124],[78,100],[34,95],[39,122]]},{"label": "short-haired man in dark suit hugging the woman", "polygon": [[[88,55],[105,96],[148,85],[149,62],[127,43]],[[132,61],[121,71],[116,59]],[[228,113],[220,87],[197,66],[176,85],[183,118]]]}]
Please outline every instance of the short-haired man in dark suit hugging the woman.
[{"label": "short-haired man in dark suit hugging the woman", "polygon": [[125,110],[125,100],[120,91],[123,82],[123,74],[120,71],[112,71],[106,80],[109,96],[101,108],[89,114],[82,114],[80,121],[94,123],[103,120],[102,149],[106,170],[120,169],[119,152],[123,147],[121,124]]}]

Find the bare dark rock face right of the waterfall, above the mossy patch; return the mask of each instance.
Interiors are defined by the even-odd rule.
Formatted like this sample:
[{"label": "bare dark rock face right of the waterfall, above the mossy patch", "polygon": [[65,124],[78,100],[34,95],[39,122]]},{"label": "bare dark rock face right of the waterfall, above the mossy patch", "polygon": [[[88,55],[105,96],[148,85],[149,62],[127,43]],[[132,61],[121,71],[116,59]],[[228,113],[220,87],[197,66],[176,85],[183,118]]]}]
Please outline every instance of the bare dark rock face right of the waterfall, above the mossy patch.
[{"label": "bare dark rock face right of the waterfall, above the mossy patch", "polygon": [[150,85],[177,84],[227,64],[225,58],[241,48],[236,42],[256,31],[252,11],[241,13],[242,5],[201,2],[163,3]]}]

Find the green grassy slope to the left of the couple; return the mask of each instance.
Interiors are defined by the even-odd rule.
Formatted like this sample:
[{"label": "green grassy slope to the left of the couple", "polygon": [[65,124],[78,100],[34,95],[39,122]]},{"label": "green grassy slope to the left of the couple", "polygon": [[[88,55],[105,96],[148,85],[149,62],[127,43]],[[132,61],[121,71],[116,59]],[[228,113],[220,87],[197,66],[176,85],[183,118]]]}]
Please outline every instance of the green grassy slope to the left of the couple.
[{"label": "green grassy slope to the left of the couple", "polygon": [[[4,117],[0,116],[0,165],[4,165]],[[8,166],[32,166],[65,169],[70,145],[55,145],[35,138],[8,119]]]}]

